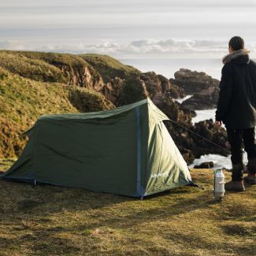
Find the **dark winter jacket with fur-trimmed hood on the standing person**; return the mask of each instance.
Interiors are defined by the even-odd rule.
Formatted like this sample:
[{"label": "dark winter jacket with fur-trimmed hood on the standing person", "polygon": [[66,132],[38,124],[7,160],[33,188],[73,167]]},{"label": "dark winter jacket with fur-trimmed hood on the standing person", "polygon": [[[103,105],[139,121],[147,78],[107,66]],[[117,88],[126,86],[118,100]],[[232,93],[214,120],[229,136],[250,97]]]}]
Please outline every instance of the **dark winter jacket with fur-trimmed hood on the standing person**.
[{"label": "dark winter jacket with fur-trimmed hood on the standing person", "polygon": [[223,58],[216,121],[226,128],[252,128],[256,124],[256,63],[247,50]]}]

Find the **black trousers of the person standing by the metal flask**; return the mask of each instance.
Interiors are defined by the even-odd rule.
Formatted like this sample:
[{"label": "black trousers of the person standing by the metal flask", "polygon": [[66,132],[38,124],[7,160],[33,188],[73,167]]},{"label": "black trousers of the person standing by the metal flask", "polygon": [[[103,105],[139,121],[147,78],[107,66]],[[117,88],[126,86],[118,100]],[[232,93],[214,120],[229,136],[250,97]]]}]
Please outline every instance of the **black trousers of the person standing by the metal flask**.
[{"label": "black trousers of the person standing by the metal flask", "polygon": [[248,156],[248,173],[256,173],[256,140],[254,128],[227,129],[231,147],[232,180],[243,180],[243,147]]}]

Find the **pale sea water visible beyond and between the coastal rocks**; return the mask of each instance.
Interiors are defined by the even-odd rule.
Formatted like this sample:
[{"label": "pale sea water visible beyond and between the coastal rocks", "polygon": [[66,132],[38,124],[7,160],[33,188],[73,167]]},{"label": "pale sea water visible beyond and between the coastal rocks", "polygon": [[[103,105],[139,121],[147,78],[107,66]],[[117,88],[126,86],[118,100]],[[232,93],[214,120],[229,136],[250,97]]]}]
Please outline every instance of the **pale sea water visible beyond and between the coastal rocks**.
[{"label": "pale sea water visible beyond and between the coastal rocks", "polygon": [[[174,78],[174,73],[179,69],[190,69],[191,71],[206,72],[207,75],[221,80],[221,69],[223,67],[221,59],[119,59],[119,61],[125,65],[132,65],[142,72],[154,71],[167,78]],[[181,103],[189,97],[191,97],[191,95],[176,99],[176,101]],[[196,117],[192,119],[192,122],[196,123],[210,118],[214,120],[215,110],[216,109],[204,109],[195,111]],[[195,161],[189,165],[189,168],[194,167],[194,165],[199,165],[204,161],[213,161],[213,169],[232,168],[230,155],[224,157],[219,154],[202,155],[200,158],[195,159]],[[244,163],[247,163],[246,153],[244,154]]]}]

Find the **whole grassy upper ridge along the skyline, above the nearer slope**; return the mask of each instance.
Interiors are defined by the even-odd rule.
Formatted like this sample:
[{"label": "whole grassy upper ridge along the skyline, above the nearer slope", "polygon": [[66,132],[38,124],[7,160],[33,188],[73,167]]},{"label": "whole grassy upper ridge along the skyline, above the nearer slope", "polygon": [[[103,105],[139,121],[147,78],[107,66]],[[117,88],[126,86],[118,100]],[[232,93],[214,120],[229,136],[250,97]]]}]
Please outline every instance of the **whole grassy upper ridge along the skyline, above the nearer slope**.
[{"label": "whole grassy upper ridge along the skyline, above the nearer slope", "polygon": [[138,69],[124,65],[115,58],[102,54],[57,54],[30,51],[0,50],[0,64],[10,72],[42,82],[81,83],[84,69],[89,69],[94,79],[102,76],[106,83],[114,77],[141,74]]}]

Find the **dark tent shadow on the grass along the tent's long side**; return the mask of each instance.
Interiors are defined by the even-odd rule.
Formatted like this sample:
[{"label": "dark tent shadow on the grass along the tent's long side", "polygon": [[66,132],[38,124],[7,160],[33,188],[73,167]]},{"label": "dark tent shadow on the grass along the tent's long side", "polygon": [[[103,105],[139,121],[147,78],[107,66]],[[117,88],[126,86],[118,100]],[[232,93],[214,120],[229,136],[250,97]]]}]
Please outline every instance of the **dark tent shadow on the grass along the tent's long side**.
[{"label": "dark tent shadow on the grass along the tent's long side", "polygon": [[[8,213],[48,215],[64,210],[95,210],[120,202],[137,200],[122,195],[87,191],[85,189],[58,187],[53,185],[20,183],[18,181],[0,180],[2,197],[0,214]],[[11,196],[11,198],[9,198]],[[2,207],[1,207],[2,206]]]}]

